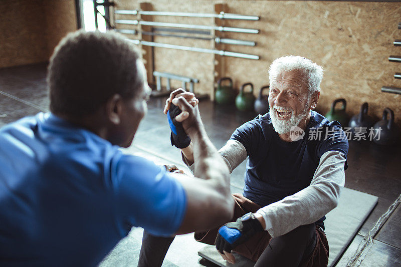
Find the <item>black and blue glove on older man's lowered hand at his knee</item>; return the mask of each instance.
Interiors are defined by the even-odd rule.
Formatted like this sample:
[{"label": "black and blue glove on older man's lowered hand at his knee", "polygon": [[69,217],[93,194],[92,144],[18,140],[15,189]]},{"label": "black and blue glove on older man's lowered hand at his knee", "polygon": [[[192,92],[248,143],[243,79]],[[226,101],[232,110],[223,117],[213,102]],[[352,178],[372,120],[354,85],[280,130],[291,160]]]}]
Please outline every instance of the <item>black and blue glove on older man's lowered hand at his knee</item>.
[{"label": "black and blue glove on older man's lowered hand at his knee", "polygon": [[[252,212],[245,214],[234,222],[220,227],[215,244],[217,250],[231,252],[239,244],[244,243],[255,233],[263,231],[262,225]],[[224,251],[223,251],[224,250]]]}]

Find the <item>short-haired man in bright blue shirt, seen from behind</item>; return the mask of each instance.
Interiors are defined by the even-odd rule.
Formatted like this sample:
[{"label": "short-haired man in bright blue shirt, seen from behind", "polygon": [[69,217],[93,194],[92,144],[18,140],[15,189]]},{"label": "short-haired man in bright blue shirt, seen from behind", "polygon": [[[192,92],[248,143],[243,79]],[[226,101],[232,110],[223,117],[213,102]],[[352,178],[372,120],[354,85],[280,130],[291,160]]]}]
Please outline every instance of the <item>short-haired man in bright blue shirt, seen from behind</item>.
[{"label": "short-haired man in bright blue shirt, seen from behind", "polygon": [[149,96],[144,65],[122,36],[69,34],[48,86],[50,113],[0,129],[1,266],[95,266],[132,226],[166,236],[232,217],[228,168],[186,101],[193,94],[173,103],[202,165],[195,177],[119,150]]}]

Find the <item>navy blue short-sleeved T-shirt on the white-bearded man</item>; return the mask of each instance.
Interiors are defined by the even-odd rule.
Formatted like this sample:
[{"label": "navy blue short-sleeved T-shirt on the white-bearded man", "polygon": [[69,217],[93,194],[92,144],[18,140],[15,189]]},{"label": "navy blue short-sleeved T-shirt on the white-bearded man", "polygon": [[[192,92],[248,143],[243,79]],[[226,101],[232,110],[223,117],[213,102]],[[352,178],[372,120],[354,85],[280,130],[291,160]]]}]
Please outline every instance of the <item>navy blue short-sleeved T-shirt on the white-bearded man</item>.
[{"label": "navy blue short-sleeved T-shirt on the white-bearded man", "polygon": [[341,125],[337,121],[329,122],[314,111],[304,138],[298,141],[281,140],[273,128],[270,113],[243,124],[230,139],[241,142],[249,156],[243,195],[261,206],[310,185],[320,157],[327,151],[339,151],[345,157],[348,153],[348,140]]}]

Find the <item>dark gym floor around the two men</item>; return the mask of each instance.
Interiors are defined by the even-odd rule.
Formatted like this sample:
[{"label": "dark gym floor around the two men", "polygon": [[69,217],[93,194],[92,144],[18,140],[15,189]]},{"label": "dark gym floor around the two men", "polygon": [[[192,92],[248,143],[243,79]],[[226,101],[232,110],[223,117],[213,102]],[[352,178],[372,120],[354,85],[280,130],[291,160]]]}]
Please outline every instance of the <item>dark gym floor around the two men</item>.
[{"label": "dark gym floor around the two men", "polygon": [[[182,164],[179,151],[169,143],[170,130],[162,113],[164,101],[165,97],[149,100],[148,114],[139,126],[133,145],[127,151],[150,153],[169,162]],[[46,112],[48,107],[46,64],[0,69],[0,127],[24,116]],[[209,100],[201,100],[199,110],[209,137],[218,149],[238,126],[256,116],[254,113],[239,112],[235,107],[216,106]],[[350,141],[345,186],[377,196],[378,203],[337,266],[347,264],[358,244],[401,193],[400,148],[400,145],[381,147],[374,143]],[[234,170],[231,176],[233,192],[241,191],[244,185],[244,170],[245,162]],[[374,235],[373,246],[361,266],[401,265],[400,233],[401,205]],[[183,259],[187,257],[185,254],[177,256]]]}]

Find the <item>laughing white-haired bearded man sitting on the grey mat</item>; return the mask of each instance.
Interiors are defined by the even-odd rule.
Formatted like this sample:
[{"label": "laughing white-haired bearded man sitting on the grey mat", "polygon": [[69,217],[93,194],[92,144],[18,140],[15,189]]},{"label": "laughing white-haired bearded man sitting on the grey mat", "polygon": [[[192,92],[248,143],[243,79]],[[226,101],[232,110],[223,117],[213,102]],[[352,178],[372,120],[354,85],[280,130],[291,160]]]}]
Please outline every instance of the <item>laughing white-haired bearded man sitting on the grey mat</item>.
[{"label": "laughing white-haired bearded man sitting on the grey mat", "polygon": [[[344,186],[348,141],[338,122],[313,111],[322,77],[323,69],[309,59],[276,59],[269,69],[270,112],[237,128],[219,150],[230,171],[248,157],[244,192],[233,194],[232,222],[196,232],[195,239],[216,244],[231,263],[233,250],[256,261],[255,266],[327,265],[323,221]],[[165,113],[181,94],[176,90],[170,95]],[[182,112],[176,121],[185,118]],[[303,138],[294,138],[294,129],[304,131]],[[309,138],[316,131],[321,138]],[[192,144],[181,151],[184,162],[196,167]],[[144,232],[139,265],[153,265],[147,261],[150,255],[162,261],[172,239]]]}]

